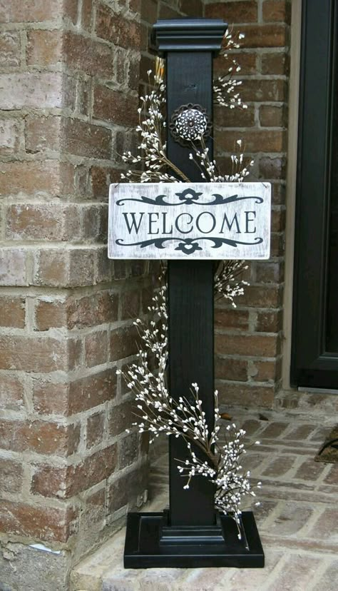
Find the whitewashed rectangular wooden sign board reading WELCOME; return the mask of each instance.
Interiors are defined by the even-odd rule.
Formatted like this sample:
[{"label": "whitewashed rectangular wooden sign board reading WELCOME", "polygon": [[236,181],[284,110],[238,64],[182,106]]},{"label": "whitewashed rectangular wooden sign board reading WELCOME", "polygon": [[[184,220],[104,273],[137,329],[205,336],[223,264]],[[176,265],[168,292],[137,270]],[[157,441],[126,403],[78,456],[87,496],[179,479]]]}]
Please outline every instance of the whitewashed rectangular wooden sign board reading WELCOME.
[{"label": "whitewashed rectangular wooden sign board reading WELCOME", "polygon": [[270,211],[270,183],[111,185],[108,257],[266,259]]}]

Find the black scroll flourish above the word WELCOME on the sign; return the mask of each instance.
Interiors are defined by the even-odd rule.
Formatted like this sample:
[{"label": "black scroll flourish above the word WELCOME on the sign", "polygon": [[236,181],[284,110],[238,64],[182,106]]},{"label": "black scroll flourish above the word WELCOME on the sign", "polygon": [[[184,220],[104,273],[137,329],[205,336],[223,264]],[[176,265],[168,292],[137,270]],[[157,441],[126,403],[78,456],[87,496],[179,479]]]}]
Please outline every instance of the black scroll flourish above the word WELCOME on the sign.
[{"label": "black scroll flourish above the word WELCOME on the sign", "polygon": [[150,205],[155,206],[178,206],[178,205],[193,205],[194,203],[198,203],[198,205],[205,205],[205,206],[212,206],[212,205],[221,205],[224,203],[233,203],[234,201],[244,201],[246,199],[255,199],[255,203],[262,203],[264,200],[262,197],[257,197],[256,195],[247,195],[243,197],[239,197],[238,195],[231,195],[230,197],[223,197],[219,193],[213,193],[212,197],[214,197],[213,201],[203,202],[200,201],[200,196],[203,193],[197,193],[194,191],[193,188],[187,188],[180,193],[175,193],[178,196],[178,203],[168,203],[165,201],[167,195],[158,195],[155,198],[141,196],[140,198],[135,197],[123,197],[116,202],[116,205],[123,206],[126,201],[136,201],[138,203],[150,203]]}]

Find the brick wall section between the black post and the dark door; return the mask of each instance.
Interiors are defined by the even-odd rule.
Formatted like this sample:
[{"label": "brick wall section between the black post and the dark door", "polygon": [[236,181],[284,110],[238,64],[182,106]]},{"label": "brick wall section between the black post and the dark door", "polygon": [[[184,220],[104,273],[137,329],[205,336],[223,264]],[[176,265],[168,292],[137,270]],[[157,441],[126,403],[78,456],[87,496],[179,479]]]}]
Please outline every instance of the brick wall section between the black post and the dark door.
[{"label": "brick wall section between the black post and the dark door", "polygon": [[[250,264],[250,287],[236,309],[225,303],[216,308],[216,386],[225,405],[272,407],[282,367],[290,2],[209,1],[205,14],[245,34],[236,57],[248,108],[215,109],[217,157],[229,166],[235,141],[242,138],[245,153],[255,160],[248,180],[270,181],[273,191],[271,257]],[[222,58],[215,61],[217,74],[224,63]]]}]

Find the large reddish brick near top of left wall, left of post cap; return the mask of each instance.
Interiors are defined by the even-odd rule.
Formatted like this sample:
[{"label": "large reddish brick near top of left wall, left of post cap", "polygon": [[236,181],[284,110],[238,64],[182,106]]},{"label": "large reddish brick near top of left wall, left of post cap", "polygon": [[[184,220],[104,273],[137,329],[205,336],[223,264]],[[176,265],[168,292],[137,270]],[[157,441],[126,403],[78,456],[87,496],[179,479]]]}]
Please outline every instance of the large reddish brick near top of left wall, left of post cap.
[{"label": "large reddish brick near top of left wall, left of post cap", "polygon": [[140,48],[140,24],[119,16],[106,4],[99,4],[97,8],[96,34],[126,49]]}]

